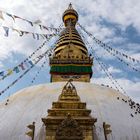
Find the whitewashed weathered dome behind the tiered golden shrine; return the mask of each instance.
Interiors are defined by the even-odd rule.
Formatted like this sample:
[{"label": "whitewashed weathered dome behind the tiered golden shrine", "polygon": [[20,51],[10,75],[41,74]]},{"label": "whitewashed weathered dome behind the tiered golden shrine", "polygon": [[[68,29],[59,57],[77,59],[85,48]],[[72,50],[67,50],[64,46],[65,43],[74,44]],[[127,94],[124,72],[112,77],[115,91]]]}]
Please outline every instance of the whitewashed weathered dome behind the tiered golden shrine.
[{"label": "whitewashed weathered dome behind the tiered golden shrine", "polygon": [[[28,87],[13,94],[8,105],[0,103],[0,140],[30,140],[27,125],[35,121],[35,139],[43,140],[45,127],[41,118],[47,116],[52,102],[57,101],[66,82]],[[129,105],[129,98],[114,89],[92,83],[73,82],[82,102],[91,109],[98,140],[104,140],[103,122],[111,125],[109,140],[140,140],[138,105]],[[136,111],[137,110],[137,111]],[[137,113],[136,113],[137,112]],[[44,139],[45,140],[45,139]]]}]

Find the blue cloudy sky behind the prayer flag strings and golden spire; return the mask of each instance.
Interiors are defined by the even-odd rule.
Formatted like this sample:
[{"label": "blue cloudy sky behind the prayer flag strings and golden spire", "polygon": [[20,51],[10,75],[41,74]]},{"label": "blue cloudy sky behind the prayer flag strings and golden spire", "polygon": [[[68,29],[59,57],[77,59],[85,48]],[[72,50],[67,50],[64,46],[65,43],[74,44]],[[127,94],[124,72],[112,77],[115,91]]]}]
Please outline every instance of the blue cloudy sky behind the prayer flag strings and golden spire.
[{"label": "blue cloudy sky behind the prayer flag strings and golden spire", "polygon": [[[73,7],[79,13],[79,23],[95,37],[112,48],[140,60],[139,0],[1,0],[0,10],[33,22],[40,20],[41,24],[46,26],[58,27],[62,23],[62,13],[70,2],[72,2]],[[30,32],[47,33],[41,31],[38,27],[31,27],[24,21],[16,20],[16,22],[13,22],[12,19],[5,15],[4,18],[4,21],[0,20],[0,71],[16,66],[43,43],[43,39],[37,41],[30,35],[19,37],[17,33],[12,31],[10,31],[8,37],[5,37],[2,26],[14,27]],[[125,89],[127,94],[135,101],[140,102],[140,74],[131,70],[123,63],[120,63],[115,57],[109,55],[101,47],[96,45],[86,34],[84,35],[90,45],[94,47],[95,54],[107,65],[108,71],[112,73],[113,77]],[[54,40],[48,43],[44,50],[46,50]],[[43,51],[40,51],[39,53],[42,52]],[[7,90],[4,95],[0,96],[0,100],[3,100],[5,97],[22,88],[50,82],[49,64],[47,63],[40,71],[34,84],[31,84],[32,78],[40,69],[43,61],[45,60],[42,60],[19,82]],[[131,64],[133,65],[133,63]],[[140,69],[139,63],[134,66]],[[100,69],[96,61],[94,62],[93,72],[91,82],[97,84],[103,83],[105,85],[109,84],[112,86],[110,80]],[[22,72],[13,74],[5,80],[0,81],[0,90],[7,87],[20,74],[22,74]]]}]

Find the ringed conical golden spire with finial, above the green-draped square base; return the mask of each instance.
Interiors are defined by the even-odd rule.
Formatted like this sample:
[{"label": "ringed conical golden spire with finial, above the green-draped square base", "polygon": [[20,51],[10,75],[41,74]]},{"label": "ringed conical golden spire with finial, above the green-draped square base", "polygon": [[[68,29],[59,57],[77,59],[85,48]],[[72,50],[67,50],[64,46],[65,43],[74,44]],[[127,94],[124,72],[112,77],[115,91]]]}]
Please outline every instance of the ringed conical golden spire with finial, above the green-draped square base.
[{"label": "ringed conical golden spire with finial, above the green-draped square base", "polygon": [[62,19],[66,28],[61,32],[60,38],[58,39],[58,42],[56,44],[56,48],[55,48],[56,56],[58,55],[62,56],[60,50],[62,50],[64,46],[66,46],[68,53],[65,55],[66,57],[67,56],[69,57],[69,52],[70,52],[69,48],[71,45],[72,46],[75,45],[82,50],[83,53],[81,55],[86,57],[88,55],[87,48],[81,36],[79,35],[78,31],[75,28],[75,25],[78,21],[78,13],[76,12],[76,10],[73,9],[71,3],[63,13]]}]

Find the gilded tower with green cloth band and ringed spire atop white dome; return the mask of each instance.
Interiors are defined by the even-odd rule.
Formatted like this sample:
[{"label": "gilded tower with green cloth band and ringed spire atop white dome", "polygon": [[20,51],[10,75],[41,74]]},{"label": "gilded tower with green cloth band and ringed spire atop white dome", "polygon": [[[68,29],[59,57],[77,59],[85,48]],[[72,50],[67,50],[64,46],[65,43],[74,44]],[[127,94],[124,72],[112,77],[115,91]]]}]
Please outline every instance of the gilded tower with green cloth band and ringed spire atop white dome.
[{"label": "gilded tower with green cloth band and ringed spire atop white dome", "polygon": [[50,58],[51,82],[74,81],[89,82],[92,76],[93,60],[75,28],[78,13],[70,4],[62,16],[65,29],[61,32],[54,55]]}]

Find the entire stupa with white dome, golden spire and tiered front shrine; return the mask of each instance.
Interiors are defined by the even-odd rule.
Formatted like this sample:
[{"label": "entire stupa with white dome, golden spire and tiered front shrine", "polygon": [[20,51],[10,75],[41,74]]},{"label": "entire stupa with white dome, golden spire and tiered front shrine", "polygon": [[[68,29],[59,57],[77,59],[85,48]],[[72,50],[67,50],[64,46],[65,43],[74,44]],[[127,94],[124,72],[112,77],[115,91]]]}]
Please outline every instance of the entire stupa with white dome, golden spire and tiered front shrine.
[{"label": "entire stupa with white dome, golden spire and tiered front shrine", "polygon": [[90,83],[93,58],[70,4],[50,58],[51,83],[27,87],[0,103],[0,140],[140,140],[140,105]]}]

